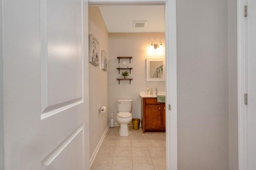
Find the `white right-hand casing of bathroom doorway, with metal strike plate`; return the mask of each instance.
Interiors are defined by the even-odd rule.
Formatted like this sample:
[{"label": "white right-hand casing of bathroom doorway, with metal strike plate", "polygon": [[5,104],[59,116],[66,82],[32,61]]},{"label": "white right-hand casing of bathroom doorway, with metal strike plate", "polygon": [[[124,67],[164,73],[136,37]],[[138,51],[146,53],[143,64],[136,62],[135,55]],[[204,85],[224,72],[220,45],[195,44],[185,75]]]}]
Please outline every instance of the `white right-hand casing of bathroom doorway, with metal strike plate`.
[{"label": "white right-hand casing of bathroom doorway, with metal strike plate", "polygon": [[166,169],[178,170],[176,0],[166,6]]}]

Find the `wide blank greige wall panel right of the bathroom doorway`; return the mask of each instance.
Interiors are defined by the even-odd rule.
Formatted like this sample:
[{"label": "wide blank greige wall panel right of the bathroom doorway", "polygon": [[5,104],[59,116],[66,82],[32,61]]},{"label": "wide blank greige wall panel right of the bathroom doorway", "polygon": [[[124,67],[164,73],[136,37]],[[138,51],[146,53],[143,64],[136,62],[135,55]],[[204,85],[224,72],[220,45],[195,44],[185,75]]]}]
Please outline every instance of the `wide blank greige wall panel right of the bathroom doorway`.
[{"label": "wide blank greige wall panel right of the bathroom doorway", "polygon": [[228,170],[228,1],[176,4],[178,169]]}]

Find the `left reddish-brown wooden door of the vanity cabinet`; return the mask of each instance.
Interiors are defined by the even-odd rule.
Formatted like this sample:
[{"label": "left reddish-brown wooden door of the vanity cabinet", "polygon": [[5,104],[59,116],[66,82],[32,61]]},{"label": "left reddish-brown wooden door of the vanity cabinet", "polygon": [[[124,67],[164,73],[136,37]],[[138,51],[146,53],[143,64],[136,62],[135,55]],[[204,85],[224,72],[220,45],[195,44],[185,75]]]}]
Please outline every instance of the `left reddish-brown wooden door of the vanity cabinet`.
[{"label": "left reddish-brown wooden door of the vanity cabinet", "polygon": [[161,104],[146,104],[146,129],[162,129]]}]

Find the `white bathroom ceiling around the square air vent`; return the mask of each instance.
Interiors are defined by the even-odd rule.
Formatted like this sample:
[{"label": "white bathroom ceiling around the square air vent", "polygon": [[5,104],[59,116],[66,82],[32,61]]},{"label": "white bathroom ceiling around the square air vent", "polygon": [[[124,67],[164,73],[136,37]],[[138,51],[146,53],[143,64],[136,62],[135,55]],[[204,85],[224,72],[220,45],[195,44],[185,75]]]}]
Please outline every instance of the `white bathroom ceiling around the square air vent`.
[{"label": "white bathroom ceiling around the square air vent", "polygon": [[[99,7],[109,33],[164,32],[164,6]],[[133,27],[133,21],[146,21]]]}]

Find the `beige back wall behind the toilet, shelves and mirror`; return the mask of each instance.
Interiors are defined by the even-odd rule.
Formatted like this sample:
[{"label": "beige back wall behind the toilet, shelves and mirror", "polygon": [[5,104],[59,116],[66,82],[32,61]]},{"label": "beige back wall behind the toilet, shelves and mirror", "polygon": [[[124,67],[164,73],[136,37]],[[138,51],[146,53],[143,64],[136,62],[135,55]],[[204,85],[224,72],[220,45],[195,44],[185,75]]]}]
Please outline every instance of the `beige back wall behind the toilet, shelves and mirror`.
[{"label": "beige back wall behind the toilet, shelves and mirror", "polygon": [[[117,99],[132,99],[132,117],[140,118],[140,96],[139,92],[146,92],[146,88],[156,88],[159,91],[165,91],[165,82],[147,82],[146,81],[146,58],[164,57],[164,55],[151,55],[148,53],[148,47],[151,41],[162,41],[164,46],[164,33],[109,33],[109,59],[108,59],[108,107],[111,119],[111,112],[115,123],[117,111]],[[133,78],[131,84],[129,81],[120,81],[116,78],[122,78],[118,74],[117,67],[118,56],[132,56],[129,60],[120,60],[120,63],[126,61],[129,67],[133,67],[129,78]],[[122,71],[120,70],[120,73]],[[154,90],[155,91],[155,90]]]}]

